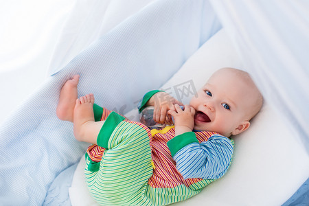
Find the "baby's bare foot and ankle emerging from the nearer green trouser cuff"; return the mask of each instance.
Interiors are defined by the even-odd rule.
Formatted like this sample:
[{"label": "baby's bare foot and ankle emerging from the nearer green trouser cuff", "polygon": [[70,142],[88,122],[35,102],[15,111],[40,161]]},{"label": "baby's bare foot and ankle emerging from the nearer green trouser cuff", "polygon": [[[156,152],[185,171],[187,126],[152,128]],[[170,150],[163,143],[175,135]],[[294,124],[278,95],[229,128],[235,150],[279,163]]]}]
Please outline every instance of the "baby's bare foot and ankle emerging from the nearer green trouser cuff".
[{"label": "baby's bare foot and ankle emerging from the nearer green trouser cuff", "polygon": [[73,113],[74,136],[78,141],[86,141],[97,144],[97,137],[104,121],[95,122],[93,115],[93,94],[89,94],[76,100]]}]

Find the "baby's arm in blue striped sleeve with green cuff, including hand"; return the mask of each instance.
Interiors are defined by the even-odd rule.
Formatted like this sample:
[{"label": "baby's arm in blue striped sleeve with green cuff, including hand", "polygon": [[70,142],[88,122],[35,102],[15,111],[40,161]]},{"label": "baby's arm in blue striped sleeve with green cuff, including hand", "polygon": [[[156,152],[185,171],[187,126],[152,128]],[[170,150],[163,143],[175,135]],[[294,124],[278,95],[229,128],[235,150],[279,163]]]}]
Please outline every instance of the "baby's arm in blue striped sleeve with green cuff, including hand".
[{"label": "baby's arm in blue striped sleeve with green cuff, including hand", "polygon": [[198,143],[194,128],[194,108],[178,104],[176,111],[168,111],[174,117],[175,137],[168,141],[176,168],[185,179],[218,179],[227,169],[233,154],[233,146],[227,137],[213,135],[208,141]]}]

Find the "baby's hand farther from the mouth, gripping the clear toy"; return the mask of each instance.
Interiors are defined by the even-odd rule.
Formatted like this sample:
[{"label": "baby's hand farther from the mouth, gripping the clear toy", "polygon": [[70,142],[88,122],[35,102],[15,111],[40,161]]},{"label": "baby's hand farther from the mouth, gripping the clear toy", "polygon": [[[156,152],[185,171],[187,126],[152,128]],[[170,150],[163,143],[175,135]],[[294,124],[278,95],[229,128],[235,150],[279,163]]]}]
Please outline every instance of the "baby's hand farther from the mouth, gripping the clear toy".
[{"label": "baby's hand farther from the mouth, gripping the clear toy", "polygon": [[158,92],[150,98],[150,105],[155,106],[153,119],[160,124],[172,124],[172,118],[168,114],[169,110],[175,111],[174,104],[183,105],[165,92]]}]

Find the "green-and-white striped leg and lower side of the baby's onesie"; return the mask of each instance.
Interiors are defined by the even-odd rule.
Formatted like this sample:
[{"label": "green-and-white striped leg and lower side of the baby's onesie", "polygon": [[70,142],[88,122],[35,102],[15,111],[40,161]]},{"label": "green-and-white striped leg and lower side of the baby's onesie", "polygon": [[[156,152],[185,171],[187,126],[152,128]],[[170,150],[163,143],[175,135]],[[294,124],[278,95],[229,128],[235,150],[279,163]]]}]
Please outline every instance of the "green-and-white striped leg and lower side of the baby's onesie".
[{"label": "green-and-white striped leg and lower side of the baby's onesie", "polygon": [[[211,181],[153,188],[149,137],[141,126],[122,121],[108,139],[100,170],[85,172],[89,191],[102,205],[169,205],[190,198]],[[87,163],[89,163],[89,158]]]}]

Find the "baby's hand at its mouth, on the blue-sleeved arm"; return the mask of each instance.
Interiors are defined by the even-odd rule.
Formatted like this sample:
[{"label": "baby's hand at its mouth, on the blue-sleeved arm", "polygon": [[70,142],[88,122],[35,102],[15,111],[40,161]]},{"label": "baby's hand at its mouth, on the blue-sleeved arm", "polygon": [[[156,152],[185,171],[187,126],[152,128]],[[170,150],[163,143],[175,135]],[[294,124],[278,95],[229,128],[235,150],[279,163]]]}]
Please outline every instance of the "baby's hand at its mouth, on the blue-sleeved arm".
[{"label": "baby's hand at its mouth, on the blue-sleeved arm", "polygon": [[192,132],[194,128],[195,109],[189,105],[185,105],[183,110],[178,104],[175,104],[174,107],[175,111],[169,110],[168,114],[174,117],[175,135]]}]

